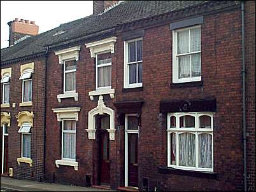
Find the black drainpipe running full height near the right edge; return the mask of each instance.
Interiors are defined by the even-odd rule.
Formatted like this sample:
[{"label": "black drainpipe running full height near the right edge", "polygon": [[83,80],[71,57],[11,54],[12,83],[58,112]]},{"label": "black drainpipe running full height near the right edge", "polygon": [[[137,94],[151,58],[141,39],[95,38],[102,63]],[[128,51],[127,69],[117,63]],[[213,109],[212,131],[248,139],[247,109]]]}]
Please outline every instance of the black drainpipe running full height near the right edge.
[{"label": "black drainpipe running full height near the right edge", "polygon": [[242,14],[242,48],[243,48],[243,163],[245,191],[247,191],[247,165],[246,165],[246,90],[245,90],[245,1],[241,2]]}]

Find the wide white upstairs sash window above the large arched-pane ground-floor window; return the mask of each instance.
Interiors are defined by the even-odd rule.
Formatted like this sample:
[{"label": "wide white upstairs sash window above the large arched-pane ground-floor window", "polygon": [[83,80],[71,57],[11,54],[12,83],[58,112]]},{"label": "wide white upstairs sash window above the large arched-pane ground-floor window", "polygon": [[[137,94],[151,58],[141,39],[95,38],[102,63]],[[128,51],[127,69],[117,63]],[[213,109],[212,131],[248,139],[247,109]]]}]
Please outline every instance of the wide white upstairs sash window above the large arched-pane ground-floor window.
[{"label": "wide white upstairs sash window above the large arched-pane ground-floor window", "polygon": [[173,31],[173,83],[201,81],[201,28]]}]

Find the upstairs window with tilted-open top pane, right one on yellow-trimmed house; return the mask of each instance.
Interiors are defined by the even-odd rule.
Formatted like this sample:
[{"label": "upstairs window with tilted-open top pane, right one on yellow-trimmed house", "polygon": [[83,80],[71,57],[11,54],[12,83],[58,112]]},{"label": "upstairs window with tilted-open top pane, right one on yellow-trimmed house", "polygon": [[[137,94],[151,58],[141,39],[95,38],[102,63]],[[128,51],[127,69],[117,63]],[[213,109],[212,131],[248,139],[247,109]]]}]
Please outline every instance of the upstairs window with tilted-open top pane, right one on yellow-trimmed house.
[{"label": "upstairs window with tilted-open top pane, right one on yellow-trimmed house", "polygon": [[19,79],[22,80],[22,102],[32,101],[32,69],[25,69]]}]

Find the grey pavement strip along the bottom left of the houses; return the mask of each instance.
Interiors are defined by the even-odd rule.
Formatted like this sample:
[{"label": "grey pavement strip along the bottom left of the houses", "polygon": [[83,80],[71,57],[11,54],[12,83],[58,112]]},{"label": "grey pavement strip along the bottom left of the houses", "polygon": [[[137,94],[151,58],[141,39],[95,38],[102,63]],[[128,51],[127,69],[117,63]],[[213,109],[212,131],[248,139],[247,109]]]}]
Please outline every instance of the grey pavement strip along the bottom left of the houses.
[{"label": "grey pavement strip along the bottom left of the houses", "polygon": [[106,189],[84,188],[47,182],[29,181],[1,177],[1,191],[110,191]]}]

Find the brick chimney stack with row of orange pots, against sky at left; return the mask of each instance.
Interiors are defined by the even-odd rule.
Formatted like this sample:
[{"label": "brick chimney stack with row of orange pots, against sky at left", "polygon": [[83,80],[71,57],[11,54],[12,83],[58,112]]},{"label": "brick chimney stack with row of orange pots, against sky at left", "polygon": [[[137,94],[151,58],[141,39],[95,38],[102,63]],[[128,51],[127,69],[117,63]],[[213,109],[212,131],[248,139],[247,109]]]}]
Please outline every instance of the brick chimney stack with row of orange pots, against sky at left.
[{"label": "brick chimney stack with row of orange pots, against sky at left", "polygon": [[36,36],[38,34],[38,25],[29,20],[15,18],[15,20],[7,23],[10,27],[9,46],[14,45],[15,41],[24,38],[25,36]]}]

